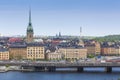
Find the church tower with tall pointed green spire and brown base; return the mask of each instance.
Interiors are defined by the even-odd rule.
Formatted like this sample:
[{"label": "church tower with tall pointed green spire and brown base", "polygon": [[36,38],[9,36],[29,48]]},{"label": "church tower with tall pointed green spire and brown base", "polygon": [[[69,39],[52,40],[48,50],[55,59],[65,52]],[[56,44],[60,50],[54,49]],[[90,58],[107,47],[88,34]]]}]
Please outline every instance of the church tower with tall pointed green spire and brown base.
[{"label": "church tower with tall pointed green spire and brown base", "polygon": [[29,10],[29,24],[27,27],[26,34],[27,34],[27,43],[33,42],[34,31],[33,31],[32,23],[31,23],[31,9]]}]

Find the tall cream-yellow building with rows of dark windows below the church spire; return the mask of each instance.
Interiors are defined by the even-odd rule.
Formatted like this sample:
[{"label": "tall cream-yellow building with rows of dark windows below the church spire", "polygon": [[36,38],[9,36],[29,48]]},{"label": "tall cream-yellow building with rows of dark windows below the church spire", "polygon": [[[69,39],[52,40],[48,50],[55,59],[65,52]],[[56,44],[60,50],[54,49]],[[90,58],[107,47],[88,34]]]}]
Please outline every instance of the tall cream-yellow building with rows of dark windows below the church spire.
[{"label": "tall cream-yellow building with rows of dark windows below the church spire", "polygon": [[45,59],[45,48],[39,43],[29,43],[27,45],[27,59]]}]

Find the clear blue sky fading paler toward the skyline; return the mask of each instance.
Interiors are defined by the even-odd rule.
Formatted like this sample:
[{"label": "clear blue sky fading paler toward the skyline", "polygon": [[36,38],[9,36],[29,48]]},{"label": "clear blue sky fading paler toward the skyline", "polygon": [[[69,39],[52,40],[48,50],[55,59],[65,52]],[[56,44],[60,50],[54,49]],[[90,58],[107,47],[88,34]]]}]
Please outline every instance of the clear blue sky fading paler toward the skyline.
[{"label": "clear blue sky fading paler toward the skyline", "polygon": [[120,34],[120,0],[0,0],[0,34],[26,35],[29,7],[34,35]]}]

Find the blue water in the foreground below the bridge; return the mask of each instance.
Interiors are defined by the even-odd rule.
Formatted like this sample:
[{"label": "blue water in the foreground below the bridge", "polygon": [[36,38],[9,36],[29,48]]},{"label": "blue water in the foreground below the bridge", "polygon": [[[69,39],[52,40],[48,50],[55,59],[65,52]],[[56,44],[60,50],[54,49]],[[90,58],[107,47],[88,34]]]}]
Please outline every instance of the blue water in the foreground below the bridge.
[{"label": "blue water in the foreground below the bridge", "polygon": [[[15,72],[0,73],[0,80],[118,80],[120,69],[113,73],[105,73],[102,68],[85,69],[83,73],[77,72]],[[118,71],[118,72],[117,72]]]}]

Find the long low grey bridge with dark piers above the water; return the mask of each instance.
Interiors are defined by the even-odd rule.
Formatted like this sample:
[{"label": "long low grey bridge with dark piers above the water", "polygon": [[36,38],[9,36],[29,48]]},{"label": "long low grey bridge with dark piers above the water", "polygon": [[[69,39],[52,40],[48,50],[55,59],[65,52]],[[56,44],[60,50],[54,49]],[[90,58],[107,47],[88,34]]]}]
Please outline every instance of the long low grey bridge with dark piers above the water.
[{"label": "long low grey bridge with dark piers above the water", "polygon": [[106,72],[112,72],[113,67],[120,67],[120,62],[0,62],[0,66],[20,66],[21,70],[54,72],[57,68],[77,68],[83,72],[88,67],[104,67]]}]

